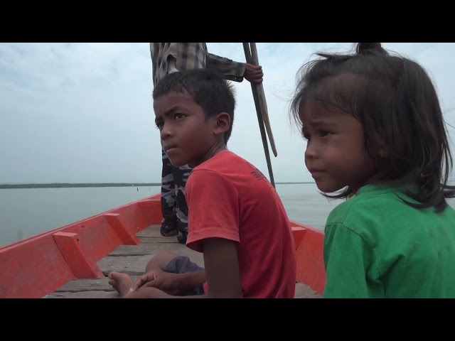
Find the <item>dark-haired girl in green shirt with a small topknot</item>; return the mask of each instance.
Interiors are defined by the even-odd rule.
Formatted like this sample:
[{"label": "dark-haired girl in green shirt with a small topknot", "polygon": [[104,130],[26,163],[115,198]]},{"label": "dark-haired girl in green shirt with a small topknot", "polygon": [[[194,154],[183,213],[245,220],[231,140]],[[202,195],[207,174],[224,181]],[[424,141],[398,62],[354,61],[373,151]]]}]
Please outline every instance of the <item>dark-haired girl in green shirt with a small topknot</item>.
[{"label": "dark-haired girl in green shirt with a small topknot", "polygon": [[451,153],[437,92],[417,63],[359,43],[304,65],[292,113],[327,197],[326,298],[454,298]]}]

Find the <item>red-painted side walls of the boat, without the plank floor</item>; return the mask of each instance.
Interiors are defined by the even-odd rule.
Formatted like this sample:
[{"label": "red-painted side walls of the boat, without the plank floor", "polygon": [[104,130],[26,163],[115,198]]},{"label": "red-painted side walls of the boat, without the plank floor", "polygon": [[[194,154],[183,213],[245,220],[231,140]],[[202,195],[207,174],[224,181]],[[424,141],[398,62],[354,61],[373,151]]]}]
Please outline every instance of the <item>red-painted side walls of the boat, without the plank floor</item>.
[{"label": "red-painted side walls of the boat, without the plank floor", "polygon": [[[139,244],[137,232],[153,224],[161,224],[159,194],[1,247],[0,298],[42,298],[73,279],[104,277],[97,261],[119,245]],[[322,293],[323,232],[289,224],[297,281]]]}]

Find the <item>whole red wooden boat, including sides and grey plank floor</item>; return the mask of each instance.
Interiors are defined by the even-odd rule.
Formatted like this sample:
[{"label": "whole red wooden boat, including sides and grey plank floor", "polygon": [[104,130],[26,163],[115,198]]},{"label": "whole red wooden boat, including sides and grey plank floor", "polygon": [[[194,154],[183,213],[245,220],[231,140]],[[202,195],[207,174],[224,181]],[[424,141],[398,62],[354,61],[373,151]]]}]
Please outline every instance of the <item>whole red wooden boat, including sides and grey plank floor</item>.
[{"label": "whole red wooden boat, including sides and grey plank floor", "polygon": [[[175,236],[159,234],[161,217],[156,194],[1,247],[0,298],[114,298],[109,271],[139,276],[145,266],[138,259],[149,259],[158,249],[177,249],[203,261]],[[289,225],[296,245],[296,297],[321,297],[323,232],[293,220]]]}]

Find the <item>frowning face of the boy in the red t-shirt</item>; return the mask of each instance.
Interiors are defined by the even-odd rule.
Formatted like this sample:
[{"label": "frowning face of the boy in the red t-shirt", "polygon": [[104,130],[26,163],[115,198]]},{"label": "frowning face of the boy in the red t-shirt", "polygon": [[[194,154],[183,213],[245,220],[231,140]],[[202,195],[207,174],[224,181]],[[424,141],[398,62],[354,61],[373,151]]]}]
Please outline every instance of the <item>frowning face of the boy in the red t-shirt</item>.
[{"label": "frowning face of the boy in the red t-shirt", "polygon": [[161,146],[174,167],[201,163],[216,139],[216,117],[205,119],[191,95],[170,92],[154,100]]}]

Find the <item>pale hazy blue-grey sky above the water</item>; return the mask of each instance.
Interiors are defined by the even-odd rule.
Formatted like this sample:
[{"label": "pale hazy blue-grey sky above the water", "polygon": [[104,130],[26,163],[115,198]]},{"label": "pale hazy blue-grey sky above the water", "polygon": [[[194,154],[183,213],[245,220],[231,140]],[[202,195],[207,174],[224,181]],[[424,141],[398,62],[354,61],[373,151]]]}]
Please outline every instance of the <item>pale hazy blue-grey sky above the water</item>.
[{"label": "pale hazy blue-grey sky above the water", "polygon": [[[270,149],[275,181],[312,181],[304,141],[289,121],[296,72],[312,53],[352,46],[257,43],[278,151],[275,158]],[[455,126],[455,43],[383,46],[429,70],[446,122]],[[242,43],[208,43],[208,49],[245,61]],[[228,147],[268,177],[250,82],[234,85]],[[0,183],[159,183],[152,90],[149,43],[0,43]]]}]

